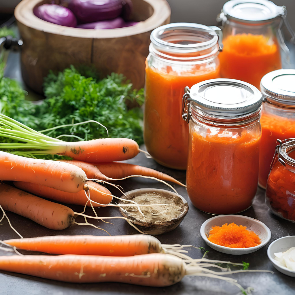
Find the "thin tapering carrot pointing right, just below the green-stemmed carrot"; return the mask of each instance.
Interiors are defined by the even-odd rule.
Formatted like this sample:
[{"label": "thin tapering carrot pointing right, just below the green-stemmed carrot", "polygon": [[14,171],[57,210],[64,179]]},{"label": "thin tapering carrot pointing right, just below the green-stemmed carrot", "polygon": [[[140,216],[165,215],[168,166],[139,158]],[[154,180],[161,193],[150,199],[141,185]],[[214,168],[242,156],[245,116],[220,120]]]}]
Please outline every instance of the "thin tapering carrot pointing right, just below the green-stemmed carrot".
[{"label": "thin tapering carrot pointing right, just below the green-stemmed carrot", "polygon": [[71,163],[80,167],[88,178],[96,178],[105,181],[120,180],[130,176],[149,176],[155,177],[164,181],[171,181],[181,186],[185,186],[175,178],[156,171],[151,168],[142,167],[140,165],[133,165],[119,162],[109,163],[86,163],[76,160],[61,160],[62,162]]}]

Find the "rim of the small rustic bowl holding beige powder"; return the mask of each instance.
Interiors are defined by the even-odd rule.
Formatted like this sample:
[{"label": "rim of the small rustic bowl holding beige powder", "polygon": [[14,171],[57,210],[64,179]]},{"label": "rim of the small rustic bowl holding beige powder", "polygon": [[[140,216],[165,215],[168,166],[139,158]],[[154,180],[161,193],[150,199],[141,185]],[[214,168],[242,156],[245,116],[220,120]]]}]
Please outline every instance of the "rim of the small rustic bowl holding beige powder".
[{"label": "rim of the small rustic bowl holding beige powder", "polygon": [[[152,222],[145,222],[145,221],[141,221],[141,220],[138,220],[136,218],[133,218],[132,216],[130,215],[127,215],[125,212],[126,210],[123,209],[123,207],[119,207],[119,210],[121,212],[121,214],[130,219],[132,221],[132,223],[136,224],[136,225],[140,225],[142,227],[148,227],[148,228],[163,228],[163,227],[167,227],[167,226],[171,226],[173,224],[176,224],[177,222],[181,221],[187,214],[187,212],[189,211],[189,204],[188,202],[186,201],[186,199],[183,198],[183,196],[179,195],[179,194],[176,194],[175,192],[173,191],[167,191],[165,189],[135,189],[135,190],[132,190],[132,191],[127,191],[125,193],[125,195],[127,196],[128,194],[132,194],[134,192],[139,192],[140,194],[144,194],[144,193],[149,193],[149,192],[156,192],[156,193],[159,193],[160,192],[165,192],[166,194],[167,193],[170,193],[172,195],[175,195],[175,196],[178,196],[182,202],[183,202],[183,212],[176,218],[173,218],[171,220],[168,220],[168,221],[162,221],[162,222],[157,222],[157,223],[152,223]],[[121,196],[121,199],[126,199],[125,196]],[[122,204],[122,201],[119,201],[119,204]]]}]

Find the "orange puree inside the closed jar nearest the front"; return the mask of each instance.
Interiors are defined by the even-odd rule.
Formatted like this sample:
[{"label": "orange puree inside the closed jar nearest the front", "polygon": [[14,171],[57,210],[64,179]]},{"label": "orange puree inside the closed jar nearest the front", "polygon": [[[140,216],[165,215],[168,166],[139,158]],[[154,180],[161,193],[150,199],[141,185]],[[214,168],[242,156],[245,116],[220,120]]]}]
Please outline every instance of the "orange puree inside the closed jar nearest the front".
[{"label": "orange puree inside the closed jar nearest the front", "polygon": [[[240,130],[240,129],[239,129]],[[186,186],[198,209],[231,214],[251,206],[258,182],[260,137],[247,132],[192,134]]]}]

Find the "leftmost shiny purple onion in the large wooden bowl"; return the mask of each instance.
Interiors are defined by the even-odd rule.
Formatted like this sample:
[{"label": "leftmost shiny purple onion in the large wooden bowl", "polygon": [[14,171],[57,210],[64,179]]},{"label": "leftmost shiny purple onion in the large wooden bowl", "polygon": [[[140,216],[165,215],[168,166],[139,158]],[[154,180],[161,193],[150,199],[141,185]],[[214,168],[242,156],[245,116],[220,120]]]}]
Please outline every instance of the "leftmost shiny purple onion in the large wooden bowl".
[{"label": "leftmost shiny purple onion in the large wooden bowl", "polygon": [[36,17],[65,27],[76,27],[77,19],[70,9],[57,4],[43,4],[34,8]]}]

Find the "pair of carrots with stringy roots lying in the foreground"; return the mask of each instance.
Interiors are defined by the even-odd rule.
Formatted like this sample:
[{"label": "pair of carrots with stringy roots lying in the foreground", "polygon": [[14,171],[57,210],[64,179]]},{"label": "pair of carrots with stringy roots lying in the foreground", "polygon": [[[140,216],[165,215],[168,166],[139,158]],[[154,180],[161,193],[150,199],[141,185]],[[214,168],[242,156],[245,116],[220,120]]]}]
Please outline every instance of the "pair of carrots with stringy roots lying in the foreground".
[{"label": "pair of carrots with stringy roots lying in the foreground", "polygon": [[232,271],[220,263],[244,264],[192,259],[183,254],[187,252],[183,247],[191,245],[162,245],[150,235],[51,236],[6,240],[2,244],[14,250],[59,255],[0,256],[0,270],[71,283],[121,282],[164,287],[178,283],[184,276],[206,276],[232,283],[246,294],[235,279],[224,275],[259,271]]}]

